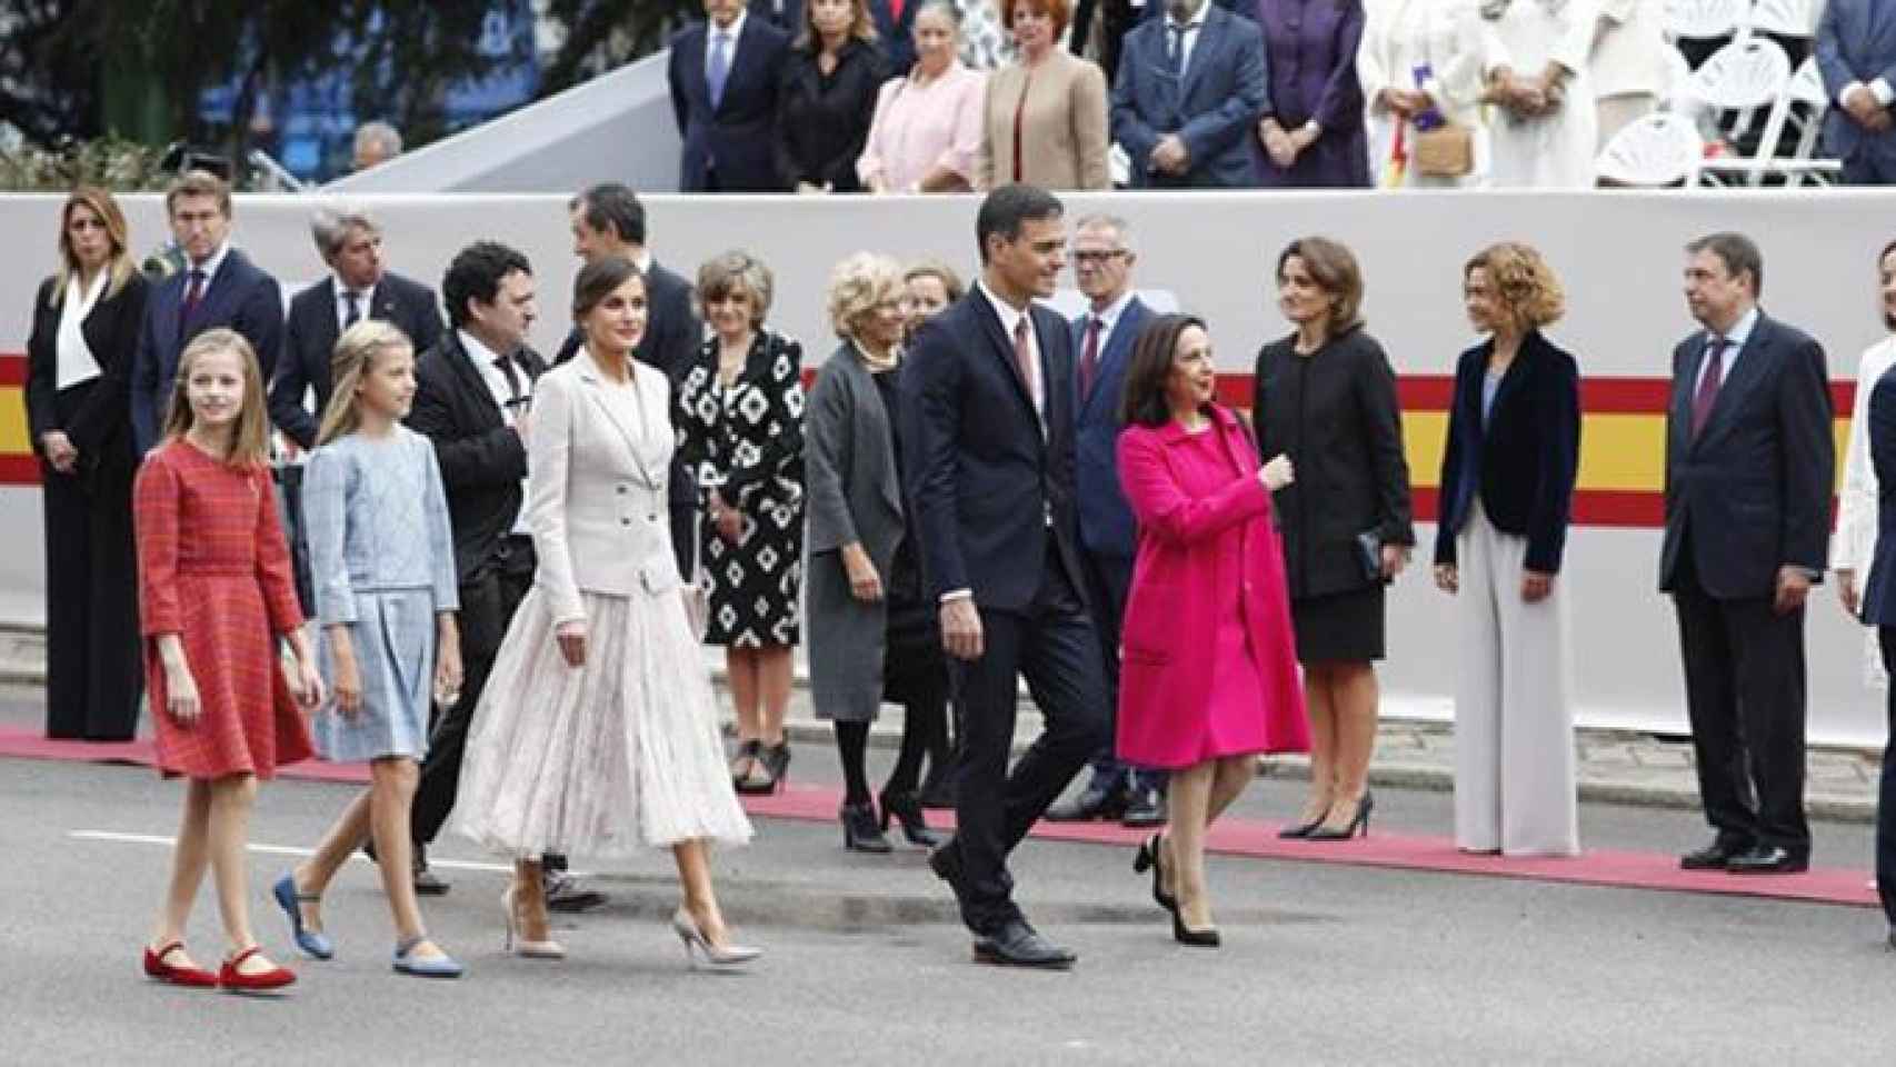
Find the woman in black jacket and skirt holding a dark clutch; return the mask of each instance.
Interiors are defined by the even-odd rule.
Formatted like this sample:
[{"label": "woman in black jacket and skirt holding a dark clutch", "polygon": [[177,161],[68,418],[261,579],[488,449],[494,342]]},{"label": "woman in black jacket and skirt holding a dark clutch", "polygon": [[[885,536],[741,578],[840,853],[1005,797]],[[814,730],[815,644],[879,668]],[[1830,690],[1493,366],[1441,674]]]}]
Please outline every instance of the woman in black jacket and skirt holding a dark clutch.
[{"label": "woman in black jacket and skirt holding a dark clutch", "polygon": [[1257,353],[1259,455],[1285,453],[1278,489],[1297,660],[1310,709],[1310,798],[1285,838],[1369,832],[1382,588],[1409,563],[1409,464],[1395,371],[1358,316],[1363,275],[1323,237],[1278,256],[1278,307],[1297,326]]}]

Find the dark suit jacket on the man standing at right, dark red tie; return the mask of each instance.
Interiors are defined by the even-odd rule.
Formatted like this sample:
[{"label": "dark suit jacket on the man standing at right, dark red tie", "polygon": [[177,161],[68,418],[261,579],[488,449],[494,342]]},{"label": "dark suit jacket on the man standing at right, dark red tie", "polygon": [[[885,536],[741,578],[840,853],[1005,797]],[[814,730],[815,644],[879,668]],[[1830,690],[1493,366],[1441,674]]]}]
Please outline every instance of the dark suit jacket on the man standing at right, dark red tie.
[{"label": "dark suit jacket on the man standing at right, dark red tie", "polygon": [[1788,565],[1820,582],[1837,462],[1824,347],[1759,313],[1693,440],[1705,353],[1703,330],[1672,349],[1659,589],[1678,588],[1686,552],[1699,586],[1722,601],[1773,595]]}]

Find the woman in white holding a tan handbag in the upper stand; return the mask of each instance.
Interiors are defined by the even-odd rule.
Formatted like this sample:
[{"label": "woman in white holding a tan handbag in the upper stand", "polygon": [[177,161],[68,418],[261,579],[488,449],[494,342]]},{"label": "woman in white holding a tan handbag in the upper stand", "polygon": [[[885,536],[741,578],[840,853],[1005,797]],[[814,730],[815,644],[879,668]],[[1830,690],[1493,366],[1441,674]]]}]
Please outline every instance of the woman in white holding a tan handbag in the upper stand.
[{"label": "woman in white holding a tan handbag in the upper stand", "polygon": [[[1356,76],[1369,108],[1369,174],[1376,186],[1479,186],[1488,167],[1481,118],[1481,21],[1473,0],[1371,0]],[[1420,72],[1420,76],[1418,76]],[[1414,154],[1416,116],[1430,110],[1473,135],[1475,165],[1460,178],[1395,165],[1395,138]]]}]

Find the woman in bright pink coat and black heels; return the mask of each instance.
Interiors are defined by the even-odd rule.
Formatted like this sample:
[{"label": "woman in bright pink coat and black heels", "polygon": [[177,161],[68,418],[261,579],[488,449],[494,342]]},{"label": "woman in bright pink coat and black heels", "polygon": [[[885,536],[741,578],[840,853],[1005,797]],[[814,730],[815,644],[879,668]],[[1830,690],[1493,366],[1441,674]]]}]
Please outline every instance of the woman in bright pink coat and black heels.
[{"label": "woman in bright pink coat and black heels", "polygon": [[1310,749],[1270,493],[1244,423],[1212,402],[1204,322],[1162,315],[1126,368],[1119,479],[1139,521],[1121,644],[1119,758],[1172,771],[1172,819],[1139,845],[1172,936],[1215,948],[1204,836],[1255,773],[1259,752]]}]

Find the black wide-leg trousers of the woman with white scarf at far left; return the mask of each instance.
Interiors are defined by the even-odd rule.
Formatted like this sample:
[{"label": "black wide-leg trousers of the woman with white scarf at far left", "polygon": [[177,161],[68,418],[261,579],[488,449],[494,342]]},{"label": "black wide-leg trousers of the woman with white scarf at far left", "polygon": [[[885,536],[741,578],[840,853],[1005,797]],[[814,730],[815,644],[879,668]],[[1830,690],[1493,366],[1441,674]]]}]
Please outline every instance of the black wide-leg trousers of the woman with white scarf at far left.
[{"label": "black wide-leg trousers of the woman with white scarf at far left", "polygon": [[[99,381],[99,379],[95,379]],[[61,417],[91,383],[57,398]],[[138,553],[133,548],[129,442],[82,455],[59,474],[44,461],[46,510],[46,735],[131,741],[144,690],[138,639]]]}]

